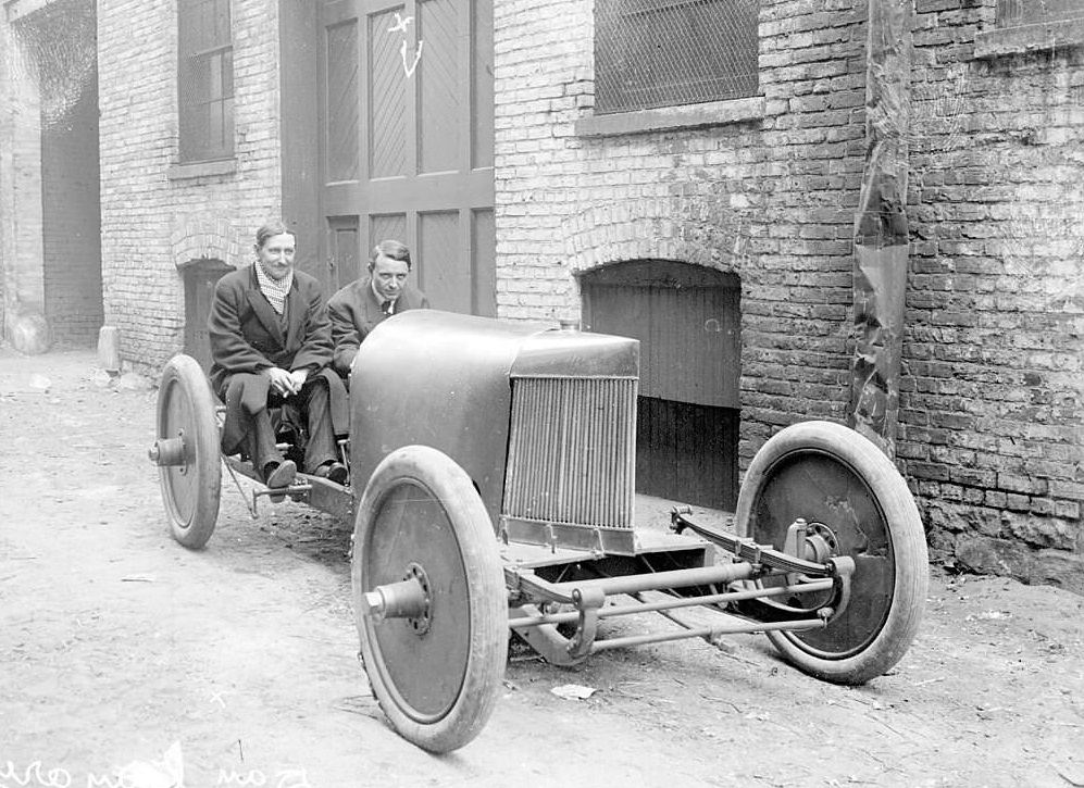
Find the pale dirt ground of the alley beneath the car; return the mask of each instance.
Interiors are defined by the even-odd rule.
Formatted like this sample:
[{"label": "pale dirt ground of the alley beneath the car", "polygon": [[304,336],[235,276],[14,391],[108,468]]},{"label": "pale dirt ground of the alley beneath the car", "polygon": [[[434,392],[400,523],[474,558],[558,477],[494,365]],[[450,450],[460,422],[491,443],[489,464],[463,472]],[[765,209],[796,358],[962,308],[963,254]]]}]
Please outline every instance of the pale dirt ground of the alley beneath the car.
[{"label": "pale dirt ground of the alley beneath the car", "polygon": [[102,375],[91,351],[0,348],[0,788],[1084,786],[1084,598],[936,567],[917,642],[865,687],[763,636],[577,671],[521,654],[482,735],[426,754],[356,660],[350,524],[253,520],[225,475],[211,542],[182,548],[146,456],[155,392]]}]

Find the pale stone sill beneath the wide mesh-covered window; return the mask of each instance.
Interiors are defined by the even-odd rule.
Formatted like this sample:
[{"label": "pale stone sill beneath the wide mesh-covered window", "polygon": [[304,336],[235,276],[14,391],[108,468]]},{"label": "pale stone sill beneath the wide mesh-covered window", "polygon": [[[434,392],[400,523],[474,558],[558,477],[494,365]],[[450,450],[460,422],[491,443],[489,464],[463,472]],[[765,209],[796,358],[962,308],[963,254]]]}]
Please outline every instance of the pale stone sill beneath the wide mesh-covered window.
[{"label": "pale stone sill beneath the wide mesh-covered window", "polygon": [[662,107],[657,110],[614,112],[609,115],[590,115],[575,123],[581,137],[614,137],[623,134],[647,134],[670,129],[723,126],[728,123],[748,123],[764,116],[764,98],[711,101],[705,104]]}]

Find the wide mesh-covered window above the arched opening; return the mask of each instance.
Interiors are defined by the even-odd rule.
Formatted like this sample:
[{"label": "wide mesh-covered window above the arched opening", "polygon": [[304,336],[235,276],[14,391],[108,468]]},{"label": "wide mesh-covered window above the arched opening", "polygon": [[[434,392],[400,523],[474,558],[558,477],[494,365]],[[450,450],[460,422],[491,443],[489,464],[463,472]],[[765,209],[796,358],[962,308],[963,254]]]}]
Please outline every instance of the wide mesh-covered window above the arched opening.
[{"label": "wide mesh-covered window above the arched opening", "polygon": [[758,0],[596,0],[595,112],[755,96]]}]

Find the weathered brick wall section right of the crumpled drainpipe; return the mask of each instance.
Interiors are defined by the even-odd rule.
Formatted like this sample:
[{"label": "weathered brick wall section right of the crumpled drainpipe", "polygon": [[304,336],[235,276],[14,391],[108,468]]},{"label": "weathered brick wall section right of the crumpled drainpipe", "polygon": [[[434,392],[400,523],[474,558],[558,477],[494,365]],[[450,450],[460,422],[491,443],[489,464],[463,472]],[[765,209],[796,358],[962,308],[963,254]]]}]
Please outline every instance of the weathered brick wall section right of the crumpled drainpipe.
[{"label": "weathered brick wall section right of the crumpled drainpipe", "polygon": [[904,470],[935,558],[1084,590],[1084,48],[918,12]]}]

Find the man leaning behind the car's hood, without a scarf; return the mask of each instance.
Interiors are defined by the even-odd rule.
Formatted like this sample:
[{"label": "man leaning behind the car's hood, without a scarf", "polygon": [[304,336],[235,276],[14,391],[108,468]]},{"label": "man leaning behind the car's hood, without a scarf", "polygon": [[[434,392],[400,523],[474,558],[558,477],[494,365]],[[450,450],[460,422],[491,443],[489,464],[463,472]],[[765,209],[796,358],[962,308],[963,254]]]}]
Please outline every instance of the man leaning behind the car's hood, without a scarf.
[{"label": "man leaning behind the car's hood, without a scarf", "polygon": [[369,276],[327,299],[337,373],[350,375],[358,348],[377,324],[409,309],[428,309],[425,295],[407,284],[409,273],[410,250],[399,241],[381,241],[369,261]]}]

